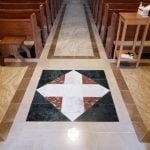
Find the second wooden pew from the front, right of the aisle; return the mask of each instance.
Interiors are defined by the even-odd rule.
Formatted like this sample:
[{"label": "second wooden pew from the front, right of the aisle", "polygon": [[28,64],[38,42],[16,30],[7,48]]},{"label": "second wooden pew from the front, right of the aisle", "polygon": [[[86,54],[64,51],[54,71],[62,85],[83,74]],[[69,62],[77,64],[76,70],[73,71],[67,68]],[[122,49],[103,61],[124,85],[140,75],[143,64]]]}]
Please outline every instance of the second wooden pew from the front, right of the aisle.
[{"label": "second wooden pew from the front, right of the aisle", "polygon": [[139,3],[106,3],[104,5],[104,16],[100,29],[100,37],[102,42],[105,42],[107,27],[110,25],[113,12],[136,12]]}]

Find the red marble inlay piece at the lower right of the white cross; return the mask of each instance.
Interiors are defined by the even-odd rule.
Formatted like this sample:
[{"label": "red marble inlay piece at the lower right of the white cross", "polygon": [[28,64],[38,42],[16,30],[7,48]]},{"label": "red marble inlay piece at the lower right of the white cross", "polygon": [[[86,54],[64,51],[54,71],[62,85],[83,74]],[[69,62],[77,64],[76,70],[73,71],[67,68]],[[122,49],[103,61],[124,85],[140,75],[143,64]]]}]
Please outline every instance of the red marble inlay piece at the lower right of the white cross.
[{"label": "red marble inlay piece at the lower right of the white cross", "polygon": [[85,110],[92,107],[97,101],[100,100],[100,97],[83,97],[84,99],[84,108]]}]

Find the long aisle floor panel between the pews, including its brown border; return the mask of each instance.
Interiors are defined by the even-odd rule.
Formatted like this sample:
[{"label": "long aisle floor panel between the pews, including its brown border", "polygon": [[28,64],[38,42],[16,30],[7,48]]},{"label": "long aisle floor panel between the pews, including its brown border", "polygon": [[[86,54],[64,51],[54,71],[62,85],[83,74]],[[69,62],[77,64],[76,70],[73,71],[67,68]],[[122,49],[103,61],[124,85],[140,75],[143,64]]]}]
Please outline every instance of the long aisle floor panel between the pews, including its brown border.
[{"label": "long aisle floor panel between the pews, including its brown border", "polygon": [[48,58],[99,57],[86,5],[65,4]]}]

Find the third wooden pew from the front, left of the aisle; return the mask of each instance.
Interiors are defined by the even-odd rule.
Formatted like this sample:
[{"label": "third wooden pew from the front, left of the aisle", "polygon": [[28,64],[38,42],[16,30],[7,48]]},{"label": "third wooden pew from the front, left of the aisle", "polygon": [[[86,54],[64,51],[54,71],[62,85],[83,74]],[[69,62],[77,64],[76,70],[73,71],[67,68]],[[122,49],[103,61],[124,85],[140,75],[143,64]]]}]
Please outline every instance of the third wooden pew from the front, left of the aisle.
[{"label": "third wooden pew from the front, left of the aisle", "polygon": [[[15,7],[15,5],[19,5],[19,4],[24,5],[24,6],[21,6],[22,9],[24,7],[27,8],[27,6],[29,8],[32,8],[32,7],[39,8],[40,5],[43,5],[44,11],[45,11],[46,17],[47,17],[48,31],[50,32],[52,22],[51,22],[49,0],[0,0],[0,5],[3,5],[3,4],[9,4],[9,5],[12,5],[12,7]],[[35,5],[37,5],[37,6],[35,6]]]}]

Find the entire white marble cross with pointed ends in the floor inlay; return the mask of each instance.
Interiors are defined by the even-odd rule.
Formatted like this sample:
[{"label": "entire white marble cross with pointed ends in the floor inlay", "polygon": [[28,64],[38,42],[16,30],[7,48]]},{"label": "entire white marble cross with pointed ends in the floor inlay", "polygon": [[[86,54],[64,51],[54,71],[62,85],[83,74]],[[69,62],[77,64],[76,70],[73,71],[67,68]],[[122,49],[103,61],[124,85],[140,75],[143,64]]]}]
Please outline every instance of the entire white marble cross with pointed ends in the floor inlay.
[{"label": "entire white marble cross with pointed ends in the floor inlay", "polygon": [[64,84],[46,84],[37,91],[44,97],[62,97],[61,112],[71,121],[84,113],[84,97],[103,97],[109,92],[100,84],[83,84],[82,74],[76,71],[65,74]]}]

